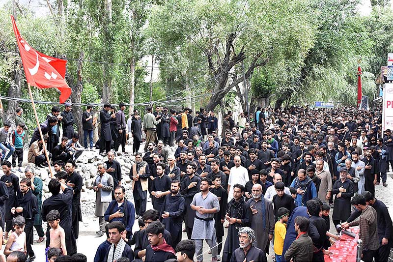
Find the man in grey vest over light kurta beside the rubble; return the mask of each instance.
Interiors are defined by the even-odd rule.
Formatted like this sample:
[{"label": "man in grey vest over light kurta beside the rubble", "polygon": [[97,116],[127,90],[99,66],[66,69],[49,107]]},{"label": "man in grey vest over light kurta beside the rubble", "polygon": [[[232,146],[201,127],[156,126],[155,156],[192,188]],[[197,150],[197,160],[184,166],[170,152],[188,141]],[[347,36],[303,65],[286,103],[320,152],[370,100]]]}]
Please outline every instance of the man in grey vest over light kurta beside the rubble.
[{"label": "man in grey vest over light kurta beside the rubble", "polygon": [[97,232],[98,236],[102,236],[105,233],[106,222],[104,214],[112,201],[113,177],[106,170],[107,164],[102,162],[97,164],[98,175],[94,177],[93,184],[93,190],[96,192],[95,216],[98,216],[98,224],[100,226],[100,230]]}]

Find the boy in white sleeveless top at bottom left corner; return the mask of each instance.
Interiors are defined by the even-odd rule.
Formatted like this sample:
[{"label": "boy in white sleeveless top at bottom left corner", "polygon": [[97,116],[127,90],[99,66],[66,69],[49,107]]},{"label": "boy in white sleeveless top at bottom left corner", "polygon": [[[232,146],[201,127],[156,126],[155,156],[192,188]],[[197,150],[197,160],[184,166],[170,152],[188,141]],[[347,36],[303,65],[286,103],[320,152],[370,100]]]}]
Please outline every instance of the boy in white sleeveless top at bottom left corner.
[{"label": "boy in white sleeveless top at bottom left corner", "polygon": [[26,221],[23,216],[17,216],[12,219],[12,227],[14,228],[14,232],[8,239],[7,244],[4,248],[4,255],[9,255],[12,251],[21,251],[23,253],[27,253],[26,250],[26,233],[25,230]]}]

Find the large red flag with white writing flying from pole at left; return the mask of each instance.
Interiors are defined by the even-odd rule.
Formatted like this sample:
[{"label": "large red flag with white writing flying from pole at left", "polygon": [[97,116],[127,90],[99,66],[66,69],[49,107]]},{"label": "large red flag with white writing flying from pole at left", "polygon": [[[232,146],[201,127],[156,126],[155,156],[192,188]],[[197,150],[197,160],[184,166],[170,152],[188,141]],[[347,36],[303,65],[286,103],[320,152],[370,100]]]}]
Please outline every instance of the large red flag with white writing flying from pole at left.
[{"label": "large red flag with white writing flying from pole at left", "polygon": [[33,48],[19,34],[15,19],[11,15],[12,27],[14,29],[19,53],[22,58],[27,82],[38,88],[56,87],[60,90],[60,103],[71,95],[71,88],[64,80],[66,60],[49,57]]}]

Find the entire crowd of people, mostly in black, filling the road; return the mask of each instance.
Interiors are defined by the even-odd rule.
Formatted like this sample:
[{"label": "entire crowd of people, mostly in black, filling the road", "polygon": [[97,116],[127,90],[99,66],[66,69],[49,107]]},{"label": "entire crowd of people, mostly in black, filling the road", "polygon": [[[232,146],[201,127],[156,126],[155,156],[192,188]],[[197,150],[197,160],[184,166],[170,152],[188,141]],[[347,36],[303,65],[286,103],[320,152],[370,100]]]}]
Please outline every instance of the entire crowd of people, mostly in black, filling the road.
[{"label": "entire crowd of people, mostly in black, filling the road", "polygon": [[[94,148],[108,159],[97,163],[90,188],[96,192],[96,234],[107,236],[95,262],[201,262],[207,254],[212,262],[259,262],[268,256],[276,262],[324,261],[339,239],[330,217],[341,228],[360,226],[363,261],[388,261],[392,220],[375,188],[388,187],[393,137],[382,130],[378,109],[258,107],[237,119],[227,112],[219,128],[218,117],[203,108],[193,116],[187,107],[157,106],[154,112],[147,107],[143,119],[134,110],[126,120],[124,103],[117,112],[105,104],[98,119],[87,106],[82,146],[71,108],[71,103],[61,113],[52,108],[40,125],[44,141],[34,130],[20,181],[14,171],[16,162],[22,171],[28,142],[23,110],[17,109],[15,129],[10,123],[0,128],[0,224],[7,261],[35,259],[33,228],[38,242],[44,241],[42,221],[48,222],[47,261],[86,261],[76,247],[83,179],[75,160]],[[119,154],[135,157],[129,174],[122,174]],[[41,203],[42,181],[34,169],[48,166],[48,160],[56,178],[48,184],[52,196]],[[126,198],[123,175],[132,179],[133,201]],[[146,210],[148,201],[153,209]],[[182,240],[183,232],[188,239]]]}]

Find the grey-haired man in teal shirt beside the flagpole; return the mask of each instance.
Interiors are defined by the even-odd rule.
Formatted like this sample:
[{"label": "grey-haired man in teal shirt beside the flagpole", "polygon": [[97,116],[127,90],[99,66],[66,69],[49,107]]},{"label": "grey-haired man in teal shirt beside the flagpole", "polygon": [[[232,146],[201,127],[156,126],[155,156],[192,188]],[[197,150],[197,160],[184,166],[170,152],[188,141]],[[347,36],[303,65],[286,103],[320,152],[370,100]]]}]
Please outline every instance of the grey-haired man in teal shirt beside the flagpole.
[{"label": "grey-haired man in teal shirt beside the flagpole", "polygon": [[34,216],[34,228],[39,236],[37,242],[41,243],[44,241],[44,230],[42,229],[42,218],[41,218],[41,205],[42,205],[42,180],[34,174],[34,168],[28,166],[25,170],[25,175],[31,182],[31,192],[37,198],[38,210]]}]

